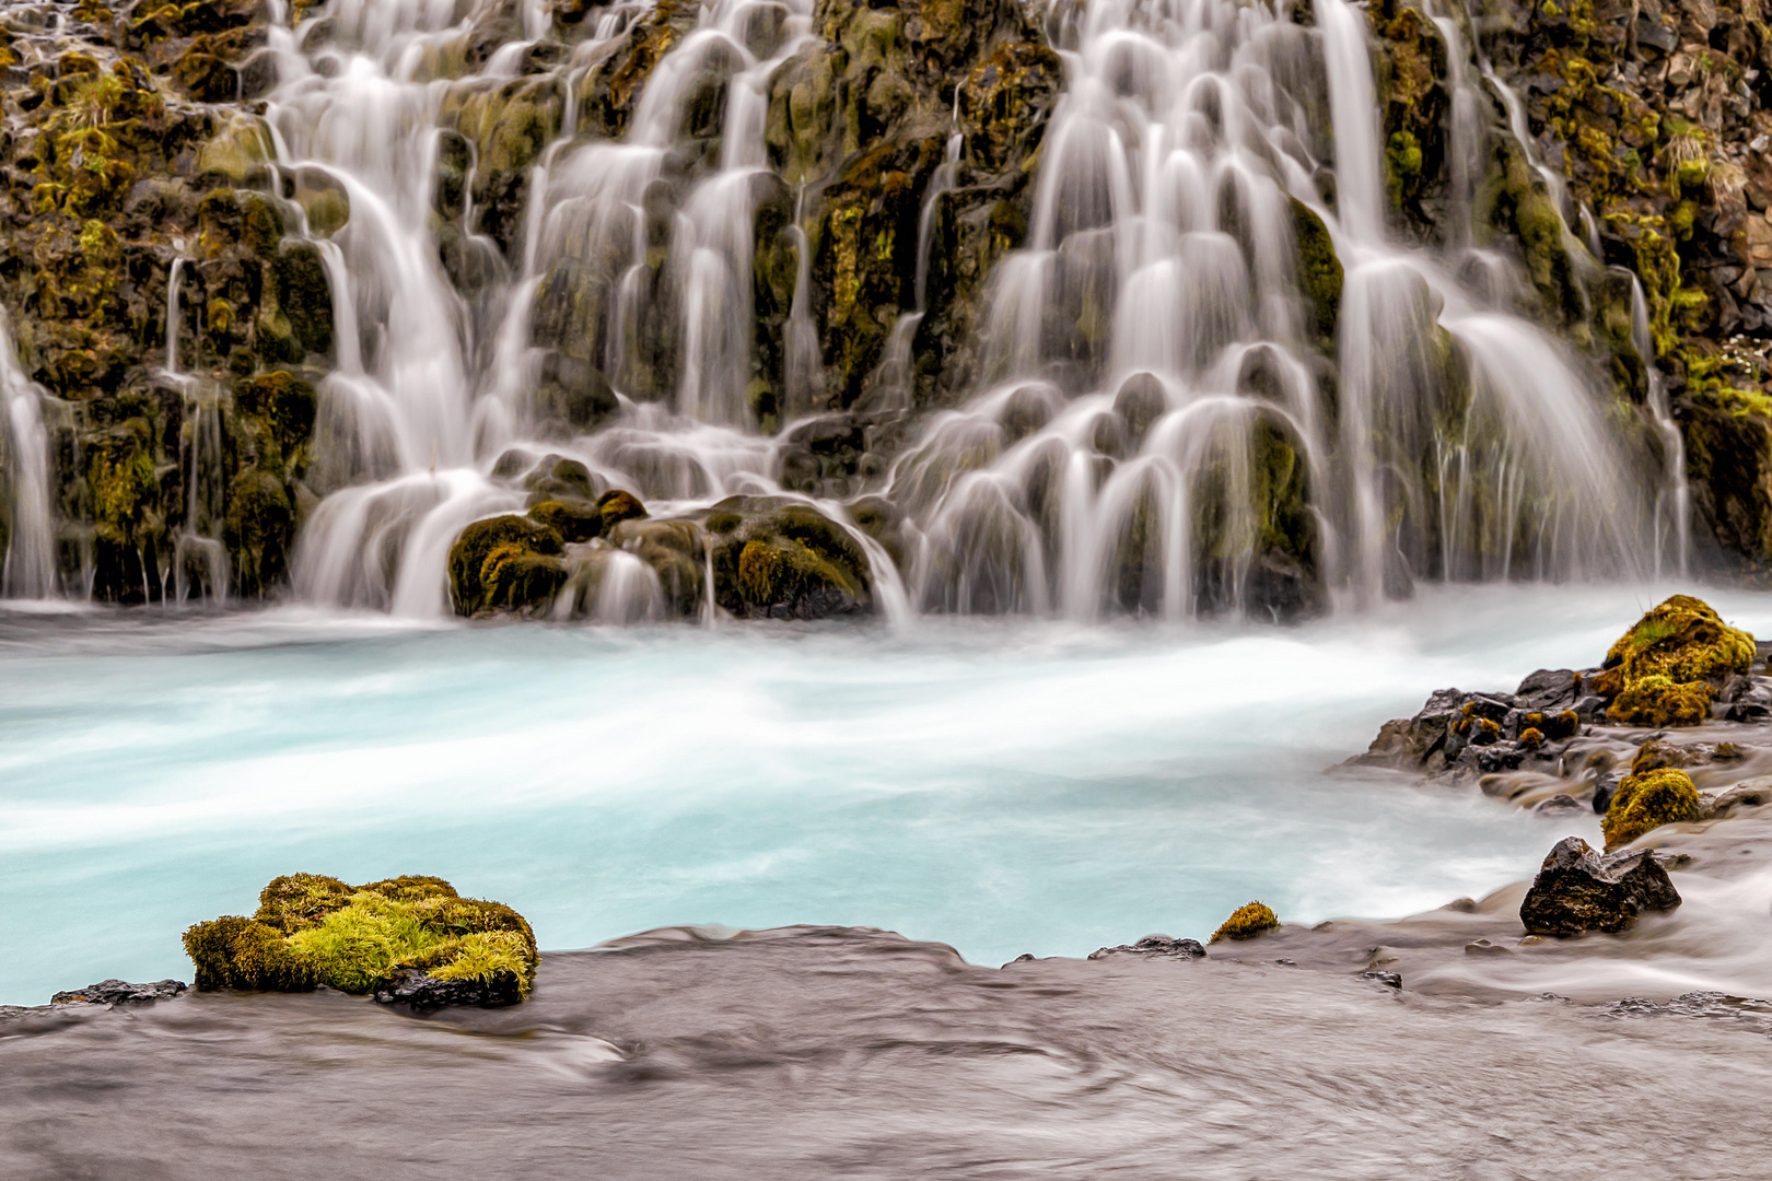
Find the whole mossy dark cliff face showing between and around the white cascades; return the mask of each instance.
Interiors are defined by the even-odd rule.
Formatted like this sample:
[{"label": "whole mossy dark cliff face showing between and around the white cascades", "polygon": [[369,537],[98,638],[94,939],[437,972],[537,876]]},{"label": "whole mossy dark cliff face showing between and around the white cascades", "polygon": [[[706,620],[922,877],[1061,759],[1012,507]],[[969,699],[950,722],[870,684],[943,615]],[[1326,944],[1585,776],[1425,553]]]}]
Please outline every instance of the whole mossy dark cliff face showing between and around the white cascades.
[{"label": "whole mossy dark cliff face showing between and around the white cascades", "polygon": [[[1311,23],[1310,5],[1288,11]],[[1636,276],[1683,434],[1699,549],[1772,572],[1772,115],[1763,110],[1772,48],[1756,9],[1492,0],[1474,25],[1455,18],[1464,46],[1402,0],[1364,12],[1393,228],[1434,246],[1467,235],[1512,255],[1526,283],[1494,292],[1497,305],[1533,310],[1609,372],[1616,405],[1607,409],[1625,423],[1627,450],[1653,457]],[[285,16],[305,51],[347,39],[323,5],[301,0]],[[301,25],[310,16],[321,19]],[[590,508],[558,489],[528,489],[560,505],[525,508],[560,535],[562,552],[516,561],[507,552],[494,563],[493,598],[468,588],[457,609],[537,611],[567,584],[588,602],[601,575],[574,583],[565,547],[599,544],[645,551],[657,579],[647,613],[691,614],[709,597],[744,616],[872,609],[877,588],[854,575],[851,526],[902,556],[902,506],[874,496],[890,462],[930,411],[999,377],[983,372],[991,276],[1024,244],[1063,85],[1040,11],[1015,0],[819,0],[797,44],[785,9],[758,9],[723,44],[705,37],[705,11],[691,0],[551,0],[546,16],[533,30],[525,5],[473,5],[461,12],[461,35],[415,48],[415,76],[434,85],[427,230],[452,296],[487,322],[512,274],[540,253],[528,340],[517,342],[528,347],[521,395],[540,437],[578,437],[634,402],[672,400],[695,328],[679,310],[696,282],[679,228],[698,184],[727,166],[741,58],[783,53],[750,96],[760,104],[762,158],[742,193],[734,189],[750,211],[746,306],[734,312],[748,340],[734,345],[744,358],[735,381],[744,427],[774,436],[796,423],[776,439],[771,478],[789,492],[851,501],[851,519],[833,521],[847,540],[820,542],[817,561],[776,545],[785,526],[764,522],[780,515],[773,508],[757,536],[654,521],[624,526],[617,545],[595,505],[608,489],[592,490]],[[57,565],[73,593],[119,602],[276,593],[296,535],[337,487],[324,475],[324,379],[342,345],[377,342],[370,329],[360,342],[337,338],[344,320],[331,306],[326,248],[363,211],[324,170],[273,168],[260,101],[278,81],[269,19],[259,0],[43,0],[0,11],[0,305],[27,375],[55,398]],[[608,235],[638,251],[631,273],[588,234],[579,235],[588,246],[542,253],[549,239],[532,220],[549,207],[537,177],[567,159],[549,156],[551,145],[565,129],[574,142],[563,147],[638,135],[664,62],[696,37],[711,48],[684,83],[679,126],[659,133],[657,175],[633,221]],[[1501,131],[1504,104],[1485,89],[1483,158],[1460,161],[1449,151],[1455,53],[1462,62],[1471,44],[1519,90],[1529,143]],[[1474,71],[1474,58],[1465,67]],[[1561,207],[1529,152],[1566,177]],[[1308,335],[1333,356],[1341,264],[1302,204],[1294,235]],[[618,296],[641,308],[622,340],[610,329]],[[1428,343],[1435,365],[1444,361],[1435,381],[1457,384],[1446,377],[1457,367],[1444,333]],[[1127,437],[1100,441],[1104,455],[1139,434],[1138,414],[1116,405],[1116,416]],[[1217,575],[1189,590],[1207,607],[1235,600],[1292,620],[1327,604],[1322,522],[1299,448],[1267,434],[1274,439],[1251,455],[1253,560],[1224,563],[1237,572],[1233,590]],[[698,540],[684,540],[691,535]],[[1122,549],[1132,558],[1116,561],[1111,606],[1138,613],[1152,602],[1154,542],[1138,528],[1129,535]],[[1240,556],[1249,545],[1242,533],[1233,540],[1224,549]],[[480,567],[471,577],[484,584]],[[631,572],[622,560],[615,567]],[[764,567],[776,574],[764,577]],[[1503,740],[1536,751],[1531,729]]]}]

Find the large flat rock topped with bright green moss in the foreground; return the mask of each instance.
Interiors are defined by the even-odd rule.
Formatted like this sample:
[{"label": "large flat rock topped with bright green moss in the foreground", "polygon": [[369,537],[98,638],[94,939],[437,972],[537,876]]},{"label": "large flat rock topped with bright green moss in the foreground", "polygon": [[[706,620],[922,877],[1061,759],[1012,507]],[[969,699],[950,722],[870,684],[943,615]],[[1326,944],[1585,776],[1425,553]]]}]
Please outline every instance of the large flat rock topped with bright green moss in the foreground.
[{"label": "large flat rock topped with bright green moss in the foreground", "polygon": [[443,878],[347,885],[273,880],[250,919],[184,933],[197,988],[312,992],[324,984],[415,1007],[516,1004],[535,984],[535,933],[510,907],[461,898]]}]

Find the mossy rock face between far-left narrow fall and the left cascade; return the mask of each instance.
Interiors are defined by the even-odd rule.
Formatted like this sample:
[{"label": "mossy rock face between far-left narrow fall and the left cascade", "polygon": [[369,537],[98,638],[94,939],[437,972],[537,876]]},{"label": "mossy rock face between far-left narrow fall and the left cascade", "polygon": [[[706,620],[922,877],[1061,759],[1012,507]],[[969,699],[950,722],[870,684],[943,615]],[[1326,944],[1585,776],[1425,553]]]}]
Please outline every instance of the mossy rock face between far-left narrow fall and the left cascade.
[{"label": "mossy rock face between far-left narrow fall and the left cascade", "polygon": [[310,499],[333,312],[243,101],[264,39],[257,0],[0,12],[0,303],[57,398],[62,584],[99,598],[264,593]]}]

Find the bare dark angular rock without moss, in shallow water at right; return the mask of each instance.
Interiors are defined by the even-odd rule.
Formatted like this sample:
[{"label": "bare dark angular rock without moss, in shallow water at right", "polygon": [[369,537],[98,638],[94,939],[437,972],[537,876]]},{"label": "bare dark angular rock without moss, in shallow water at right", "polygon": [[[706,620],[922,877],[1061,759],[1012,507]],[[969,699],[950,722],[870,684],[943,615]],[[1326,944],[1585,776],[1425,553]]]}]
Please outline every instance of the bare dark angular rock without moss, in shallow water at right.
[{"label": "bare dark angular rock without moss, in shallow water at right", "polygon": [[1582,931],[1621,931],[1644,910],[1673,910],[1680,892],[1643,850],[1616,857],[1593,852],[1579,836],[1558,841],[1520,905],[1529,935],[1566,938]]}]

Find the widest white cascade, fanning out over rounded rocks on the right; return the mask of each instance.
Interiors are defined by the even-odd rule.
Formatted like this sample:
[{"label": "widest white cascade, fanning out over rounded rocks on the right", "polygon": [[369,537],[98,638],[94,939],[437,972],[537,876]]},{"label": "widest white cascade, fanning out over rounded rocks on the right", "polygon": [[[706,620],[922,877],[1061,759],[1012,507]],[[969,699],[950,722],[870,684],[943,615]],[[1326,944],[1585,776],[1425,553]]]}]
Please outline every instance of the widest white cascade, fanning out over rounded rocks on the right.
[{"label": "widest white cascade, fanning out over rounded rocks on the right", "polygon": [[[1279,570],[1251,563],[1283,469],[1356,602],[1414,577],[1648,567],[1574,358],[1455,282],[1457,259],[1387,239],[1364,19],[1315,14],[1313,34],[1214,0],[1049,9],[1070,89],[1030,246],[999,271],[994,388],[893,476],[923,528],[923,607],[1285,602],[1285,547]],[[1483,133],[1464,112],[1455,135]],[[1295,278],[1299,204],[1345,266],[1333,358]]]}]

